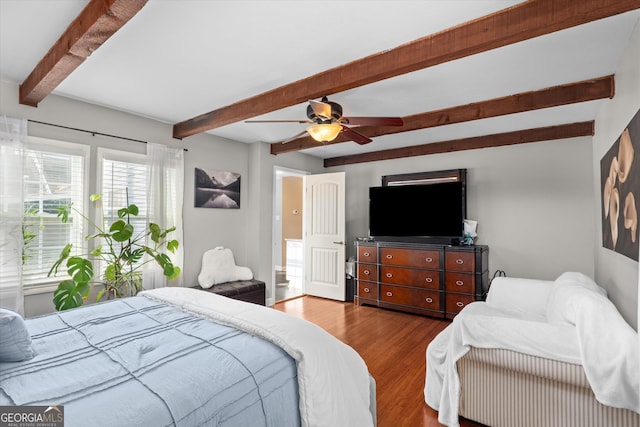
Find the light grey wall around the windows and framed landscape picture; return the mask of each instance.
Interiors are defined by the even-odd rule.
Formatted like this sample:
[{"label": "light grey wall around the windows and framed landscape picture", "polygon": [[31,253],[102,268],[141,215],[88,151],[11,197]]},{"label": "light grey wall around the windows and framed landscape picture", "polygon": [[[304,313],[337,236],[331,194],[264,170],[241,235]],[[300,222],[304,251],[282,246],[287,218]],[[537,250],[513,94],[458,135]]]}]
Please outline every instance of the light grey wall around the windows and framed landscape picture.
[{"label": "light grey wall around the windows and framed landscape picture", "polygon": [[[275,156],[269,154],[268,145],[254,144],[255,147],[250,147],[247,144],[208,134],[195,135],[180,141],[172,138],[170,124],[55,95],[48,96],[37,108],[27,107],[18,104],[18,86],[4,81],[0,82],[0,93],[2,94],[0,114],[188,148],[189,151],[185,153],[183,208],[183,247],[185,251],[183,278],[185,286],[196,284],[202,254],[205,250],[215,246],[231,248],[237,264],[250,267],[256,277],[262,279],[264,275],[266,278],[267,274],[270,277],[270,243],[257,245],[255,240],[256,234],[262,233],[268,236],[269,242],[271,236],[271,170]],[[92,136],[87,133],[33,123],[29,124],[29,134],[87,144],[92,147],[91,155],[94,164],[96,147],[98,146],[138,153],[144,153],[146,150],[146,146],[142,143]],[[251,153],[255,152],[259,153],[259,156],[252,156]],[[312,159],[303,154],[287,156],[286,161],[282,156],[279,159],[290,167],[309,170],[321,168],[318,159]],[[312,160],[309,161],[309,159]],[[261,163],[264,163],[264,166]],[[250,168],[250,164],[257,164],[257,167]],[[193,190],[195,167],[240,173],[240,209],[195,208]],[[252,176],[254,171],[255,177]],[[94,178],[91,178],[91,181],[93,185]],[[256,200],[252,200],[252,197]],[[255,226],[258,225],[256,218],[260,220],[259,233],[255,229]],[[250,226],[247,227],[247,224]],[[252,250],[256,247],[262,247],[262,250]],[[25,310],[27,316],[52,311],[51,294],[27,295]]]}]

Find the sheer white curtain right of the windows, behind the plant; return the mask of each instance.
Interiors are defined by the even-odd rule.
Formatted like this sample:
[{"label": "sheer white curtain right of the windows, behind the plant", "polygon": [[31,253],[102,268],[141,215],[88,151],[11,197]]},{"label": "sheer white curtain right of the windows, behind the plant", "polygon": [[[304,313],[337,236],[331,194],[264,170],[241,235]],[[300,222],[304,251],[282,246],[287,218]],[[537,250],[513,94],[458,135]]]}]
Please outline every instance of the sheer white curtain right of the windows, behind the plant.
[{"label": "sheer white curtain right of the windows, behind the plant", "polygon": [[[176,227],[168,235],[170,240],[179,242],[178,250],[169,253],[174,265],[184,266],[182,238],[182,191],[184,188],[184,150],[161,144],[147,144],[149,161],[147,176],[148,222],[156,223],[162,229]],[[152,242],[150,242],[152,243]],[[167,278],[155,262],[146,264],[143,273],[145,289],[167,286]],[[182,286],[182,275],[171,282],[173,286]]]}]

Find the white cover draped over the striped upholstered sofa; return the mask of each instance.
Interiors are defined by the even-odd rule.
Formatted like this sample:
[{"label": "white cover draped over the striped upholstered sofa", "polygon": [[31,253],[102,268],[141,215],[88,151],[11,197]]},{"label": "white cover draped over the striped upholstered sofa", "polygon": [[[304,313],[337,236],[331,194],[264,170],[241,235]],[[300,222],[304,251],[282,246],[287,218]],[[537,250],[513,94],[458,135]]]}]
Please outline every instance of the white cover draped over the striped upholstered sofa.
[{"label": "white cover draped over the striped upholstered sofa", "polygon": [[439,411],[442,424],[459,426],[456,362],[470,347],[581,364],[598,401],[640,413],[638,334],[605,296],[577,286],[561,290],[559,300],[566,303],[558,308],[561,320],[555,324],[476,302],[429,344],[425,401]]}]

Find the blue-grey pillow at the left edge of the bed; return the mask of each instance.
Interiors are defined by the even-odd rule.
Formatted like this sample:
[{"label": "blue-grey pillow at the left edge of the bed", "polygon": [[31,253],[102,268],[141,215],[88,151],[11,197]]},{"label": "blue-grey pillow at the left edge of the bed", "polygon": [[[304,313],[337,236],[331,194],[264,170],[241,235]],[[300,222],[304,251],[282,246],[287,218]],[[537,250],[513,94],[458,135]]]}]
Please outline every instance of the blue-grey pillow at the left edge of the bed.
[{"label": "blue-grey pillow at the left edge of the bed", "polygon": [[0,308],[0,362],[21,362],[33,356],[31,335],[22,316]]}]

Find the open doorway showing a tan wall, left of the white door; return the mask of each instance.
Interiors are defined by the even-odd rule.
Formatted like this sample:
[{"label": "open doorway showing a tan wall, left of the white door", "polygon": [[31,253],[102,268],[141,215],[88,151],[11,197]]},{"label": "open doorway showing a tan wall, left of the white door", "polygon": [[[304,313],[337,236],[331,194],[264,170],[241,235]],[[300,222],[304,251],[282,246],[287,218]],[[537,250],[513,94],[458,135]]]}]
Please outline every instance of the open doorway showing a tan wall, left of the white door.
[{"label": "open doorway showing a tan wall, left of the white door", "polygon": [[274,167],[273,282],[275,302],[304,295],[303,176]]}]

